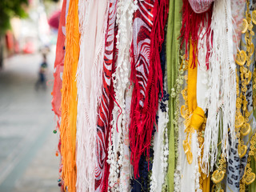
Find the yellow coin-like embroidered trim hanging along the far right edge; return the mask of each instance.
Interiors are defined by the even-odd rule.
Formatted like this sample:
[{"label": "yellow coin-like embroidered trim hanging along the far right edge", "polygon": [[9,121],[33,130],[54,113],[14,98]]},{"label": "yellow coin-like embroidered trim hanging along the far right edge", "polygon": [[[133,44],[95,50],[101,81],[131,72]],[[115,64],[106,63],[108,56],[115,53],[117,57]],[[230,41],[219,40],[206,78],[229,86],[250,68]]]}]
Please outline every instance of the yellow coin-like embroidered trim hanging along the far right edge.
[{"label": "yellow coin-like embroidered trim hanging along the far right edge", "polygon": [[[250,162],[252,158],[255,158],[256,155],[256,135],[250,135],[251,127],[249,123],[250,111],[247,109],[247,100],[246,100],[246,91],[247,85],[250,83],[252,76],[255,78],[255,70],[254,74],[250,71],[250,65],[252,64],[251,58],[254,54],[254,44],[252,42],[252,38],[254,36],[253,31],[253,23],[256,23],[256,11],[254,10],[252,14],[250,14],[249,9],[250,1],[246,1],[246,18],[243,19],[243,29],[242,33],[245,34],[246,39],[246,51],[241,50],[238,51],[236,56],[236,63],[240,66],[240,76],[238,77],[237,73],[237,111],[236,111],[236,119],[235,119],[235,130],[238,138],[238,155],[240,158],[244,157],[247,152],[247,146],[244,144],[242,138],[246,135],[249,135],[250,139],[250,149],[249,156],[247,158],[247,164],[245,172],[240,181],[240,192],[246,191],[246,185],[250,185],[255,180],[255,174],[252,172],[252,168],[250,166]],[[239,90],[239,78],[242,82],[241,90]],[[253,84],[253,89],[255,90],[255,81]],[[255,91],[254,91],[255,92]],[[254,99],[255,102],[255,99]],[[255,109],[255,103],[254,103]]]}]

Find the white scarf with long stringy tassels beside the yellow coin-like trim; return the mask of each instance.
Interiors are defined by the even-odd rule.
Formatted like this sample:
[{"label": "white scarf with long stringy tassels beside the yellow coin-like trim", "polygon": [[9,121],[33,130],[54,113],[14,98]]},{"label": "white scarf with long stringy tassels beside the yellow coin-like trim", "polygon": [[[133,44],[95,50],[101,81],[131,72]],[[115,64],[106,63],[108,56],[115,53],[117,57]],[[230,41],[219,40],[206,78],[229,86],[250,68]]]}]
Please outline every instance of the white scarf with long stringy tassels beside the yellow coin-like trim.
[{"label": "white scarf with long stringy tassels beside the yellow coin-like trim", "polygon": [[[233,48],[233,25],[230,0],[217,0],[211,22],[213,36],[210,55],[210,101],[205,130],[202,163],[207,172],[210,159],[212,170],[218,155],[218,133],[221,131],[222,153],[228,158],[230,144],[234,142],[234,119],[236,103],[236,80]],[[232,86],[231,86],[232,85]]]}]

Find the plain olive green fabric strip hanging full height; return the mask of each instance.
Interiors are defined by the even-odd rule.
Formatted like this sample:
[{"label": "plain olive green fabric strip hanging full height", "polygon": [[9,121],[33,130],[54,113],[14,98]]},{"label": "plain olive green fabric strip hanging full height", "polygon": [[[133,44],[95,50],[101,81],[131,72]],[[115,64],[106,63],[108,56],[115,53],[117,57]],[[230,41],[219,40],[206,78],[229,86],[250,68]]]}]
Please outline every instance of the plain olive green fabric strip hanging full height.
[{"label": "plain olive green fabric strip hanging full height", "polygon": [[[167,63],[167,83],[168,92],[174,87],[178,76],[179,68],[179,40],[182,23],[182,0],[170,0],[168,26],[166,32],[166,63]],[[174,135],[174,112],[175,98],[170,97],[169,102],[169,166],[168,166],[168,191],[174,191],[174,169],[175,169],[175,135]],[[176,135],[177,137],[177,135]]]}]

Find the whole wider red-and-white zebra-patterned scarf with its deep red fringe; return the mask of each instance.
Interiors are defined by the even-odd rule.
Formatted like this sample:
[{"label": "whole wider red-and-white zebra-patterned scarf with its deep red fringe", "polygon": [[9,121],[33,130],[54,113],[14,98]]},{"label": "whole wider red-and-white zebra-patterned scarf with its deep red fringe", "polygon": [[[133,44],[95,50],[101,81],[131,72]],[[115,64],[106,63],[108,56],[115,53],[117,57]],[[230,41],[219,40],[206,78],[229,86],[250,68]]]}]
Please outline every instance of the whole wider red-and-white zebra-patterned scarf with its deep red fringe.
[{"label": "whole wider red-and-white zebra-patterned scarf with its deep red fringe", "polygon": [[150,155],[150,142],[162,90],[159,52],[168,14],[167,0],[138,1],[134,14],[134,38],[131,46],[131,75],[134,90],[130,111],[130,150],[134,177],[143,153]]}]

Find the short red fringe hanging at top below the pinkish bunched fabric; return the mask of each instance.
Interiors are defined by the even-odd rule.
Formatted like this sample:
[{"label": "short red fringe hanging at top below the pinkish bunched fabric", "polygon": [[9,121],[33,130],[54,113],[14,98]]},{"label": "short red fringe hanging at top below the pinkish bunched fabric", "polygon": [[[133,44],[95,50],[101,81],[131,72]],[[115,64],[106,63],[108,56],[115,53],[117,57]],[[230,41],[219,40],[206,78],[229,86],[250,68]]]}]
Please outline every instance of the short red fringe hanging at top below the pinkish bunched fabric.
[{"label": "short red fringe hanging at top below the pinkish bunched fabric", "polygon": [[[208,8],[205,12],[200,12],[197,14],[190,6],[190,2],[188,0],[183,0],[182,6],[182,29],[181,29],[181,36],[182,43],[181,49],[185,42],[185,50],[186,50],[186,58],[187,58],[187,51],[188,51],[188,43],[189,40],[191,41],[193,46],[193,60],[190,67],[195,67],[195,56],[198,54],[198,38],[202,28],[206,28],[206,38],[211,41],[212,34],[210,34],[210,22],[211,22],[211,15],[212,15],[212,6]],[[206,54],[206,66],[209,67],[209,56],[210,56],[210,43],[207,41],[207,54]],[[198,63],[200,65],[200,63]]]}]

